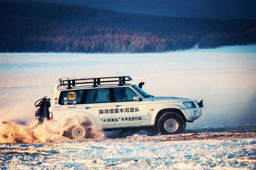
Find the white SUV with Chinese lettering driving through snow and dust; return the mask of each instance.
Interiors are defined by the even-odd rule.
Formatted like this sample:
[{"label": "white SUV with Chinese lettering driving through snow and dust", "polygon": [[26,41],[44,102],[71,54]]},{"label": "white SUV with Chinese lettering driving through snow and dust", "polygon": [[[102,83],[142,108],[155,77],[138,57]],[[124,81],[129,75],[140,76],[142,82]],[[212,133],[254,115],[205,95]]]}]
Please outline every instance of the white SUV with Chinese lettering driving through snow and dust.
[{"label": "white SUV with Chinese lettering driving through snow and dust", "polygon": [[[46,97],[37,101],[35,116],[39,122],[56,121],[67,137],[77,140],[90,137],[92,128],[151,127],[163,135],[179,134],[186,122],[202,114],[203,100],[154,97],[142,90],[144,82],[126,83],[131,80],[129,76],[59,79],[52,103]],[[109,82],[118,83],[105,84]]]}]

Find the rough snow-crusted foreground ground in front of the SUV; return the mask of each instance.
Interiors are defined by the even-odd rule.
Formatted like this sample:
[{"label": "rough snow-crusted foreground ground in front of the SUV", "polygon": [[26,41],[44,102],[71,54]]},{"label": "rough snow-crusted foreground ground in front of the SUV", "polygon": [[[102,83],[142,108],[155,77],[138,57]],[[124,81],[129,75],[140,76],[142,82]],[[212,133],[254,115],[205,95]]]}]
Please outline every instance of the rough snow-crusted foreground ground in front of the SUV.
[{"label": "rough snow-crusted foreground ground in front of the SUV", "polygon": [[[137,134],[121,139],[81,142],[6,143],[0,146],[0,165],[7,169],[256,168],[256,138],[165,141],[168,137]],[[141,139],[145,141],[141,142]],[[243,165],[236,168],[233,161]]]}]

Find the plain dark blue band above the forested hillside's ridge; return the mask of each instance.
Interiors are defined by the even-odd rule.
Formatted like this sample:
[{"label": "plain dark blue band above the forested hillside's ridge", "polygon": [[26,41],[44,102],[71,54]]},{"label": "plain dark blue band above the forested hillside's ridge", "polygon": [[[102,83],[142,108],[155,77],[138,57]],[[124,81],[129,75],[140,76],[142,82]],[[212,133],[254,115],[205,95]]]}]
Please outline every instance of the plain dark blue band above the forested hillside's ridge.
[{"label": "plain dark blue band above the forested hillside's ridge", "polygon": [[[27,0],[19,0],[27,1]],[[31,1],[31,0],[29,0]],[[33,0],[40,1],[40,0]],[[118,12],[211,19],[256,19],[255,0],[41,0]]]}]

